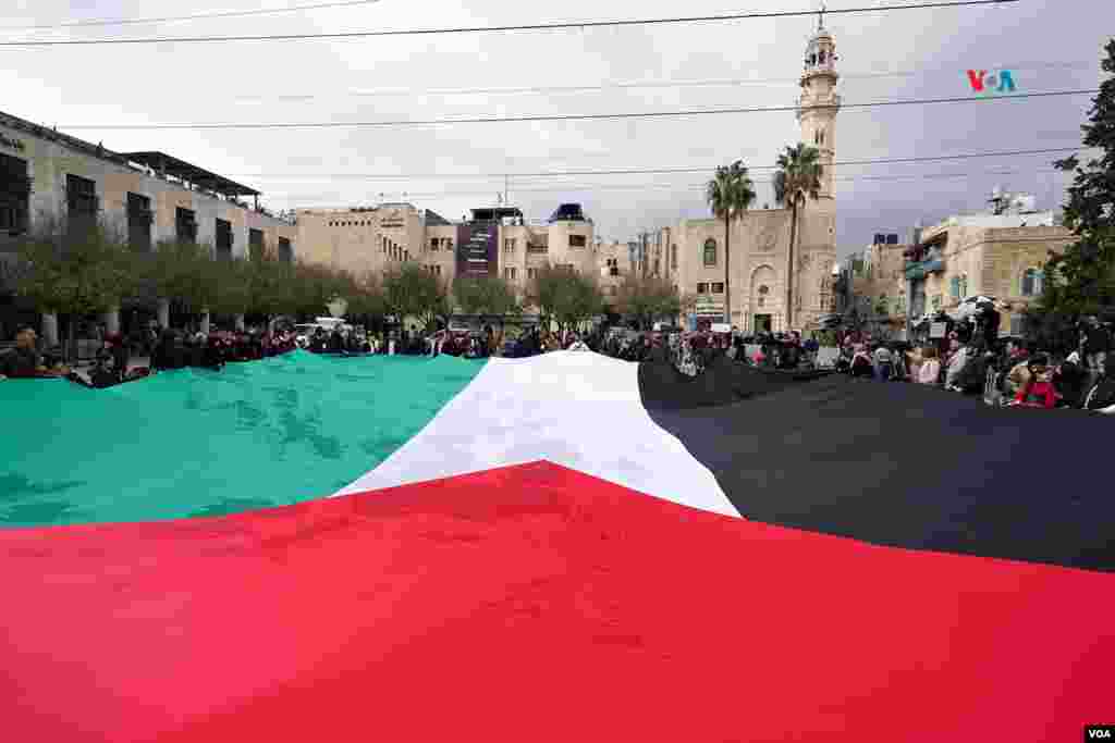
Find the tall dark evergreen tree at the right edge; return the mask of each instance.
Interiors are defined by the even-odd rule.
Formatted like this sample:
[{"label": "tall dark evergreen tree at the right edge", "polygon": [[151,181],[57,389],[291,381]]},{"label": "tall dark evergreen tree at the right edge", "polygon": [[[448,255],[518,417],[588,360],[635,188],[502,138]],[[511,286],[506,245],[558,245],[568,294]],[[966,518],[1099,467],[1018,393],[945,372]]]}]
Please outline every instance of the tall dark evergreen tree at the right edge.
[{"label": "tall dark evergreen tree at the right edge", "polygon": [[1054,165],[1075,172],[1065,204],[1065,226],[1077,239],[1060,255],[1050,255],[1046,281],[1031,329],[1059,335],[1080,315],[1099,314],[1115,305],[1115,39],[1105,47],[1102,67],[1108,78],[1093,99],[1084,145],[1102,150],[1086,165],[1074,155]]}]

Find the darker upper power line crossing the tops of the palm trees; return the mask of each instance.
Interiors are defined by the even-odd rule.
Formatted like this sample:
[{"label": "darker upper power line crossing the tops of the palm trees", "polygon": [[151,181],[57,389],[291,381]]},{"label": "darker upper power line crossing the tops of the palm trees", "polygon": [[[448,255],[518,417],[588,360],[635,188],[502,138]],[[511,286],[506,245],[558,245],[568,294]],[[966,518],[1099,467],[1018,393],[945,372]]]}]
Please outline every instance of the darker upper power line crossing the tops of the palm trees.
[{"label": "darker upper power line crossing the tops of the palm trees", "polygon": [[[997,153],[966,153],[963,155],[932,155],[923,157],[883,157],[861,160],[836,160],[830,165],[898,165],[909,163],[940,163],[947,160],[966,160],[982,157],[1017,157],[1022,155],[1053,155],[1057,153],[1075,153],[1087,149],[1082,145],[1075,147],[1047,147],[1043,149],[1015,149]],[[749,170],[776,170],[777,165],[754,165]],[[667,167],[667,168],[617,168],[608,170],[542,170],[537,173],[230,173],[230,177],[236,178],[356,178],[356,179],[390,179],[401,178],[419,180],[424,178],[547,178],[563,176],[611,176],[611,175],[668,175],[668,174],[692,174],[712,173],[715,165],[704,167]]]}]

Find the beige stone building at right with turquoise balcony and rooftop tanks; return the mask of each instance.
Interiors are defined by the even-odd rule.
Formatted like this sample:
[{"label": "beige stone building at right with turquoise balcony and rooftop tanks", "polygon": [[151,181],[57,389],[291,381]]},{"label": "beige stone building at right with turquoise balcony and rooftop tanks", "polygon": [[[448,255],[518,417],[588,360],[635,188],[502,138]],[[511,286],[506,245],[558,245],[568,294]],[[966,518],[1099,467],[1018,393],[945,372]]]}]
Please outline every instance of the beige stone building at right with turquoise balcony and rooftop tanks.
[{"label": "beige stone building at right with turquoise balcony and rooftop tanks", "polygon": [[1035,209],[1030,196],[997,189],[990,201],[991,213],[954,216],[921,229],[917,244],[905,252],[900,291],[906,295],[912,325],[985,295],[1007,306],[999,332],[1021,334],[1022,313],[1041,295],[1046,262],[1075,236],[1056,224],[1051,211]]}]

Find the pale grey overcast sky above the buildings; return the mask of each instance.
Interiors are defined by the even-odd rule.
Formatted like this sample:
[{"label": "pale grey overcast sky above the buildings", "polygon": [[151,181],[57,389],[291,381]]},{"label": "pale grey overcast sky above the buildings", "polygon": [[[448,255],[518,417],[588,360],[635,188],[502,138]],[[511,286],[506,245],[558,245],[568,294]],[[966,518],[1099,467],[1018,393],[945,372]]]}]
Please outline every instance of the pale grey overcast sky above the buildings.
[{"label": "pale grey overcast sky above the buildings", "polygon": [[[0,38],[338,32],[803,10],[816,0],[562,3],[380,0],[249,18],[55,29],[86,19],[151,19],[324,0],[8,0]],[[882,0],[830,7],[885,4]],[[462,7],[464,6],[464,7]],[[1018,92],[1095,88],[1115,32],[1111,0],[1020,0],[998,7],[830,16],[844,101],[971,95],[964,70],[1009,68]],[[793,113],[675,119],[498,123],[400,128],[105,130],[87,125],[353,121],[785,106],[816,18],[594,30],[469,33],[350,41],[0,48],[0,108],[116,151],[157,149],[264,192],[281,209],[407,199],[446,217],[495,203],[504,178],[456,175],[708,167],[737,157],[756,169],[756,205],[773,202],[778,150],[798,140]],[[1106,36],[1105,36],[1106,32]],[[743,80],[743,85],[694,85]],[[648,84],[589,91],[522,88]],[[678,84],[662,86],[660,84]],[[465,91],[465,92],[462,92]],[[472,92],[468,92],[472,91]],[[478,91],[478,92],[477,92]],[[836,159],[1072,147],[1089,97],[844,110]],[[905,238],[985,206],[996,184],[1059,204],[1054,156],[845,166],[836,172],[837,246],[876,232]],[[999,173],[995,173],[999,172]],[[385,175],[436,177],[388,178]],[[962,175],[958,175],[962,174]],[[338,177],[347,176],[347,177]],[[380,176],[380,177],[377,177]],[[927,177],[930,176],[930,177]],[[948,176],[948,177],[941,177]],[[952,177],[954,176],[954,177]],[[841,179],[857,178],[857,179]],[[702,174],[512,177],[529,217],[579,202],[605,239],[707,215]]]}]

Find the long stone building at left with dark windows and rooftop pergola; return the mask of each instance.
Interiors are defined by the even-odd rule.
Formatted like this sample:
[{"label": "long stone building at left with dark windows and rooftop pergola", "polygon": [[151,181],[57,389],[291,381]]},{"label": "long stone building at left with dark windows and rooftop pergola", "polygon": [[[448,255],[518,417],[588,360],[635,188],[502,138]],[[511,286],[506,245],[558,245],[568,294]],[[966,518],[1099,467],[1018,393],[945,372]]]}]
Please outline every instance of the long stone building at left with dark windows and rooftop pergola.
[{"label": "long stone building at left with dark windows and rooftop pergola", "polygon": [[[165,153],[110,151],[0,113],[0,258],[10,257],[18,242],[38,228],[99,222],[138,251],[164,239],[188,239],[232,257],[266,244],[279,257],[293,260],[292,221],[260,208],[260,195]],[[243,197],[253,198],[254,206]],[[45,339],[57,342],[56,317],[17,304],[10,293],[0,295],[0,313],[19,315],[21,323],[41,321]],[[161,303],[164,325],[168,312]],[[103,322],[109,332],[119,330],[119,311]]]}]

